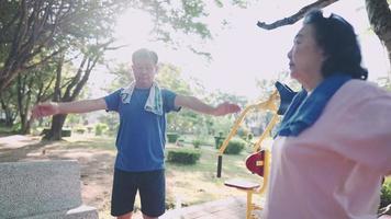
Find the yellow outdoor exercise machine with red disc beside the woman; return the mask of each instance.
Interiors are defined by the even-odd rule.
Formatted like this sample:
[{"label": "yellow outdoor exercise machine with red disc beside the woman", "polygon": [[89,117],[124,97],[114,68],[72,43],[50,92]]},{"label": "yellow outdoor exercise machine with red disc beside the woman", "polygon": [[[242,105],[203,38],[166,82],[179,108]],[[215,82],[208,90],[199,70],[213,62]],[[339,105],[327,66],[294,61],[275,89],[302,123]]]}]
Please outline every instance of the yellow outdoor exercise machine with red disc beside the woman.
[{"label": "yellow outdoor exercise machine with red disc beside the woman", "polygon": [[[259,176],[262,177],[261,183],[254,183],[248,182],[245,180],[233,178],[228,180],[224,183],[224,185],[230,187],[235,187],[237,189],[244,191],[247,193],[247,201],[246,201],[246,219],[255,218],[254,210],[261,209],[261,207],[253,204],[253,194],[260,194],[264,195],[267,188],[269,171],[270,171],[270,157],[271,152],[268,149],[261,149],[261,142],[267,138],[270,137],[270,131],[275,127],[276,123],[278,122],[279,115],[283,115],[287,111],[290,102],[292,101],[295,92],[293,92],[289,87],[276,82],[277,90],[269,96],[269,99],[265,102],[249,105],[247,106],[239,117],[236,119],[233,128],[231,129],[228,136],[223,141],[222,146],[219,150],[219,160],[217,160],[217,177],[221,177],[222,171],[222,161],[223,161],[223,153],[232,137],[235,136],[241,123],[249,113],[254,110],[264,110],[270,111],[273,113],[269,124],[265,128],[264,132],[260,135],[259,139],[254,145],[254,153],[248,155],[246,159],[246,168]],[[279,106],[278,106],[279,105]]]}]

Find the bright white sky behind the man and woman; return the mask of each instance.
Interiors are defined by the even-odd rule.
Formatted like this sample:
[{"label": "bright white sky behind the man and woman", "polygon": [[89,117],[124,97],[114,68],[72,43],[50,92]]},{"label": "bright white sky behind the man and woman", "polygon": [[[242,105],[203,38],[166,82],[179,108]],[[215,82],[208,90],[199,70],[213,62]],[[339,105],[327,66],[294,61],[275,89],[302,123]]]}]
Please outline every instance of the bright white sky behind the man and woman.
[{"label": "bright white sky behind the man and woman", "polygon": [[[141,47],[156,50],[160,62],[171,62],[181,68],[185,78],[197,78],[206,90],[247,96],[254,100],[258,96],[256,79],[276,79],[278,72],[287,71],[287,53],[292,46],[292,39],[301,27],[301,21],[294,25],[265,31],[256,26],[257,21],[267,23],[295,13],[309,0],[273,0],[259,1],[249,9],[210,8],[208,23],[214,34],[214,39],[202,42],[193,36],[181,37],[180,41],[203,48],[212,54],[213,60],[208,60],[191,53],[187,48],[171,49],[160,42],[150,42],[149,31],[153,27],[147,14],[141,11],[130,11],[118,24],[118,45],[126,47],[109,54],[119,62],[130,61],[132,53]],[[364,65],[369,69],[369,80],[387,77],[390,70],[386,48],[375,33],[368,31],[369,22],[364,1],[344,0],[326,9],[325,13],[337,13],[349,21],[359,35]],[[226,19],[230,25],[221,30],[220,23]],[[100,85],[103,72],[91,76],[91,81]],[[101,83],[104,85],[104,83]]]}]

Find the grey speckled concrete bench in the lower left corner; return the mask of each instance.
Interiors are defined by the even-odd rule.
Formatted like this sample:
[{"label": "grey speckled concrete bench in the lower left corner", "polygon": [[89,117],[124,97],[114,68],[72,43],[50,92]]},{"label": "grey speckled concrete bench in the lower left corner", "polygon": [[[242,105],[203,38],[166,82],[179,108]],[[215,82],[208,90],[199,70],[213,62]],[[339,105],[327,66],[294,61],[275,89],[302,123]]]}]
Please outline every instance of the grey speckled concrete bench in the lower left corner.
[{"label": "grey speckled concrete bench in the lower left corner", "polygon": [[0,163],[0,218],[98,218],[82,205],[77,161]]}]

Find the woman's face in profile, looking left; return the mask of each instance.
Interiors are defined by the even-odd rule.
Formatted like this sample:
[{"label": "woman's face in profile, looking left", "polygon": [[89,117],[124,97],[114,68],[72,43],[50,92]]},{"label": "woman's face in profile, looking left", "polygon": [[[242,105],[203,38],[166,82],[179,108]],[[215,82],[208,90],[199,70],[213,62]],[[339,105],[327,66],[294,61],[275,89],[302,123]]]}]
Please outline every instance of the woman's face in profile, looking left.
[{"label": "woman's face in profile, looking left", "polygon": [[295,35],[288,58],[291,78],[305,90],[312,91],[323,80],[321,68],[325,56],[315,41],[315,28],[311,24],[304,24]]}]

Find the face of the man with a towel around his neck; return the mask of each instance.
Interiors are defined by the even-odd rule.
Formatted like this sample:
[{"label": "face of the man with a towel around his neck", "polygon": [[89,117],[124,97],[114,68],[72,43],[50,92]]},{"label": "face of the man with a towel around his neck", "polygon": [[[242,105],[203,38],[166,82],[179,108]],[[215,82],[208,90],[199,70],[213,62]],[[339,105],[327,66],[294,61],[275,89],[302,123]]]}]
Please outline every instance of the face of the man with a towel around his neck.
[{"label": "face of the man with a towel around his neck", "polygon": [[148,89],[152,87],[157,71],[157,66],[152,60],[136,60],[132,69],[134,79],[136,80],[136,88]]}]

